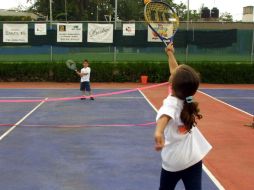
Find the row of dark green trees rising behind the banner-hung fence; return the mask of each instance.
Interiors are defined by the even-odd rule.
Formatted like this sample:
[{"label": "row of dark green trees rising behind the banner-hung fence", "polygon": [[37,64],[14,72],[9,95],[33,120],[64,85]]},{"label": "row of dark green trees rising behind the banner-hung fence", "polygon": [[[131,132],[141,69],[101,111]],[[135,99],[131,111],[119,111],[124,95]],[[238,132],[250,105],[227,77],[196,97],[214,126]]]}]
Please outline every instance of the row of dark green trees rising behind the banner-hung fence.
[{"label": "row of dark green trees rising behind the banner-hung fence", "polygon": [[[182,2],[175,4],[172,0],[165,0],[174,7],[181,21],[187,20],[187,7]],[[114,20],[115,0],[52,0],[53,20],[65,20],[65,2],[67,2],[67,16],[69,21],[105,21],[105,15],[111,15]],[[30,8],[33,12],[44,16],[49,13],[49,0],[37,0]],[[117,16],[120,20],[143,21],[143,0],[118,0]],[[196,10],[190,11],[190,20],[197,20]]]}]

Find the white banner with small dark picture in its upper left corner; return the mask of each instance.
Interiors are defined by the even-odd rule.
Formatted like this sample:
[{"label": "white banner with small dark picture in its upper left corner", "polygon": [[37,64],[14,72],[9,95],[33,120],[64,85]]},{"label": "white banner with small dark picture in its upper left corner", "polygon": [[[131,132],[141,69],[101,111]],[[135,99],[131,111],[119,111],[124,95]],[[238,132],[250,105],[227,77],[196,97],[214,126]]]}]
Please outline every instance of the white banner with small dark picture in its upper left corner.
[{"label": "white banner with small dark picture in its upper left corner", "polygon": [[83,25],[57,23],[57,42],[82,42]]}]

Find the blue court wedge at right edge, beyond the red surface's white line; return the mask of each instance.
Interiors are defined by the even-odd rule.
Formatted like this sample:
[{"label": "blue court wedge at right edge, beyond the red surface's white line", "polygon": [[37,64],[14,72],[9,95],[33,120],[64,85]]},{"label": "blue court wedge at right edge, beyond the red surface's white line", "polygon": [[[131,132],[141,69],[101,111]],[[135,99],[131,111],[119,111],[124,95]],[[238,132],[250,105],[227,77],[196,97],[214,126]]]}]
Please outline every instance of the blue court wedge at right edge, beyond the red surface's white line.
[{"label": "blue court wedge at right edge, beyond the red surface's white line", "polygon": [[200,91],[254,115],[254,89],[200,89]]}]

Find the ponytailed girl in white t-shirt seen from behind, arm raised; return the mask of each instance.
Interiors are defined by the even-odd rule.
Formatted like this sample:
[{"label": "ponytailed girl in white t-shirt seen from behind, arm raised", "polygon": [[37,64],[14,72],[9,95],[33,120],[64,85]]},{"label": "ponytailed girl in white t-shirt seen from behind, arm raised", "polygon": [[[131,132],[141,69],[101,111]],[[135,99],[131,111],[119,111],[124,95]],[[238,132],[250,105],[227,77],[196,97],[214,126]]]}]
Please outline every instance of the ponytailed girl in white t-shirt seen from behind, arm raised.
[{"label": "ponytailed girl in white t-shirt seen from behind, arm raised", "polygon": [[199,75],[187,65],[178,66],[172,43],[165,51],[172,93],[163,101],[154,132],[155,149],[162,157],[160,190],[173,190],[179,180],[187,190],[201,190],[202,159],[212,147],[196,127],[196,119],[202,118],[193,100]]}]

